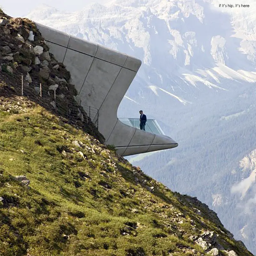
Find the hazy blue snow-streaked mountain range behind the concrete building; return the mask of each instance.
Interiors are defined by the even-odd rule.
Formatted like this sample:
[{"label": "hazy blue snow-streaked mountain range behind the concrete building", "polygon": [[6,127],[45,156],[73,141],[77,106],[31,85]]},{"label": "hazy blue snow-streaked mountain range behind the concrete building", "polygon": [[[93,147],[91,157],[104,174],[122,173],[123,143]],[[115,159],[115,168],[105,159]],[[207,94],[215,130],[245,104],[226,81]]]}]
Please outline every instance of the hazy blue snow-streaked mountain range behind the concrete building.
[{"label": "hazy blue snow-streaked mountain range behind the concrete building", "polygon": [[136,164],[212,205],[256,253],[256,223],[248,213],[255,213],[255,171],[239,165],[255,156],[256,3],[219,4],[224,3],[116,0],[73,13],[41,6],[27,17],[142,60],[118,114],[137,117],[143,109],[179,147]]}]

